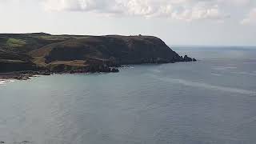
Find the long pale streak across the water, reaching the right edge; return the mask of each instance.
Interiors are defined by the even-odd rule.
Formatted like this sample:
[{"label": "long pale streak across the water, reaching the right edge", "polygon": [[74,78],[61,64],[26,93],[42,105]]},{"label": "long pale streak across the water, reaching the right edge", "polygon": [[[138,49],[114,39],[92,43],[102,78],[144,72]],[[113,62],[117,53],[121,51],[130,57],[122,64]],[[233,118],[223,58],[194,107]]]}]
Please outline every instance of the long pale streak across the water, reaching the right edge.
[{"label": "long pale streak across the water, reaching the right edge", "polygon": [[[158,78],[157,75],[153,75],[154,78]],[[176,78],[158,78],[159,80],[162,80],[164,82],[172,82],[172,83],[178,83],[182,84],[184,86],[193,86],[193,87],[198,87],[202,89],[208,89],[208,90],[221,90],[224,92],[229,92],[229,93],[236,93],[236,94],[247,94],[250,96],[256,96],[256,91],[254,90],[243,90],[243,89],[238,89],[234,87],[226,87],[226,86],[214,86],[205,82],[191,82],[187,81],[184,79],[176,79]]]}]

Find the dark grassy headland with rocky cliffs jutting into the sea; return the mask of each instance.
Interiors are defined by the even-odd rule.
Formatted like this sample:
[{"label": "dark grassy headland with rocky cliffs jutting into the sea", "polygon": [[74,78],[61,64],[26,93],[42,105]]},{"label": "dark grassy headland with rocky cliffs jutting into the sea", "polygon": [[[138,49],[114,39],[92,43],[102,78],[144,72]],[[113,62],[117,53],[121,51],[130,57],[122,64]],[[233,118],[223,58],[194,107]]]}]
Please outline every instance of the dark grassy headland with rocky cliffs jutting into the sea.
[{"label": "dark grassy headland with rocky cliffs jutting into the sea", "polygon": [[20,60],[18,64],[2,62],[6,71],[41,66],[53,71],[99,72],[124,64],[193,61],[187,56],[180,57],[160,38],[142,35],[0,34],[0,48],[13,54],[4,58],[5,54],[0,53],[0,60]]}]

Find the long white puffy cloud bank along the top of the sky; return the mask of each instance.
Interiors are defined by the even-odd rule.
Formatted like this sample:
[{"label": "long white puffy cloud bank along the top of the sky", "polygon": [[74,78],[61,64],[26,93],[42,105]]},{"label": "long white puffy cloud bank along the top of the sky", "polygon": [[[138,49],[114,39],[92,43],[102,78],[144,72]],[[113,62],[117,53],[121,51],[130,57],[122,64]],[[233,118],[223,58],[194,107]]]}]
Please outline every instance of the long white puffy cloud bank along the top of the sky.
[{"label": "long white puffy cloud bank along the top of the sky", "polygon": [[43,0],[46,10],[90,11],[98,14],[166,17],[186,21],[221,20],[229,14],[221,10],[223,2],[246,3],[250,0]]}]

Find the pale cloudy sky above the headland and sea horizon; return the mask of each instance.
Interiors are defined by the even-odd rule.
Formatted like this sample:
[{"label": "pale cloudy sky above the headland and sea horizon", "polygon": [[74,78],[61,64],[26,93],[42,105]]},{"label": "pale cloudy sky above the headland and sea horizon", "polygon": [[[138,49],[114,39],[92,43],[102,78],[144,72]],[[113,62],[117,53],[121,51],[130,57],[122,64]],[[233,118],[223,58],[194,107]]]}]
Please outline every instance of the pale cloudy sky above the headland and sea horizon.
[{"label": "pale cloudy sky above the headland and sea horizon", "polygon": [[256,46],[256,0],[0,0],[0,33],[146,34]]}]

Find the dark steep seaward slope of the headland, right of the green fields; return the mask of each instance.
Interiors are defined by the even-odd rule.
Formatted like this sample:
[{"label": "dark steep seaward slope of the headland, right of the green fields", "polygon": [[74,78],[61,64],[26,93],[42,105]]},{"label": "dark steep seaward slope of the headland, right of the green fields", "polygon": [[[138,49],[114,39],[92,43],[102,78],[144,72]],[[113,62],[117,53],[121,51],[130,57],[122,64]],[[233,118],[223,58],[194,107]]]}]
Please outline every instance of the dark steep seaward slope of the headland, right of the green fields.
[{"label": "dark steep seaward slope of the headland, right of the green fields", "polygon": [[114,60],[119,64],[181,62],[161,39],[150,36],[99,36],[71,39],[33,50],[45,63],[73,60]]}]

